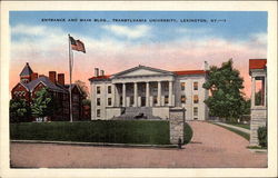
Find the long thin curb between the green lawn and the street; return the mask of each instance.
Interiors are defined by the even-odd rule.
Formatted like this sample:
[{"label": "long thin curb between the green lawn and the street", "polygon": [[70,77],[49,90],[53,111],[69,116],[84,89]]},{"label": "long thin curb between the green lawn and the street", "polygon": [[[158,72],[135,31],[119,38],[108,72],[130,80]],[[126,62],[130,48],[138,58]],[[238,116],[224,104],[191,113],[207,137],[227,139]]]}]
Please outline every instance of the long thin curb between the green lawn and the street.
[{"label": "long thin curb between the green lawn and the street", "polygon": [[56,144],[70,146],[96,146],[96,147],[133,147],[133,148],[178,148],[177,145],[136,145],[136,144],[110,144],[110,142],[73,142],[73,141],[44,141],[44,140],[11,140],[18,144]]}]

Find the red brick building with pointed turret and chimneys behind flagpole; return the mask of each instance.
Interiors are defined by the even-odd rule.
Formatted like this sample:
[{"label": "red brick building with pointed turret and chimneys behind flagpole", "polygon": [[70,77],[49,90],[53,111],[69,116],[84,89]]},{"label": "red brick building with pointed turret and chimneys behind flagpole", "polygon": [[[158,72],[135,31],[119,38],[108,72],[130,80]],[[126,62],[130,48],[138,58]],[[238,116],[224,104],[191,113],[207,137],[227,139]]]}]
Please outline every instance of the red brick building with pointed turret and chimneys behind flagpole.
[{"label": "red brick building with pointed turret and chimneys behind flagpole", "polygon": [[[20,81],[12,88],[12,99],[26,99],[29,106],[36,93],[42,88],[47,88],[53,93],[56,102],[56,113],[51,120],[69,120],[69,85],[64,83],[64,73],[49,71],[49,76],[33,72],[27,62],[20,72]],[[72,85],[72,115],[73,120],[82,119],[82,91],[77,85]]]}]

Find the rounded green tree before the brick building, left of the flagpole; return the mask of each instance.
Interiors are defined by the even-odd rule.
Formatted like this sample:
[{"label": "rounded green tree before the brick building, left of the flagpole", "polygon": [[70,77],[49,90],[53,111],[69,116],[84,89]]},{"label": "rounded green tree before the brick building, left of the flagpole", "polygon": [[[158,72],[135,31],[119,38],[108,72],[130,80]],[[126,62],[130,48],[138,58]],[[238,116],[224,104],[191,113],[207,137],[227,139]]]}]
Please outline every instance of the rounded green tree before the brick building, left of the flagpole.
[{"label": "rounded green tree before the brick building, left of the flagpole", "polygon": [[53,116],[54,100],[52,92],[49,92],[46,88],[38,91],[33,99],[31,110],[33,117]]}]

